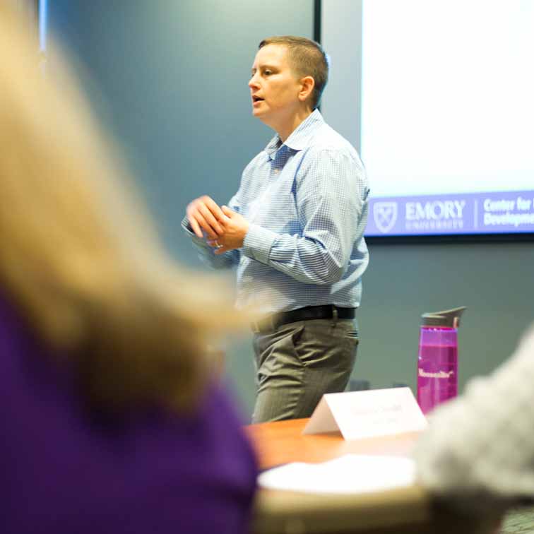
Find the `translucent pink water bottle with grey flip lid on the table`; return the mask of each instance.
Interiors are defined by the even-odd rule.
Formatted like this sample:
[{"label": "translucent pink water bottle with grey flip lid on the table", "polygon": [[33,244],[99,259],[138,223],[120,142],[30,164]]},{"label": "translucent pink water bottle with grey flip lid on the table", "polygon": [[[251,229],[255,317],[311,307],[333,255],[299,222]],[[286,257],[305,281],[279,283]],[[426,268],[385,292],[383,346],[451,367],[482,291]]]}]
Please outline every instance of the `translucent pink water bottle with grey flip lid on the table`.
[{"label": "translucent pink water bottle with grey flip lid on the table", "polygon": [[422,413],[458,395],[458,326],[465,306],[423,314],[417,358]]}]

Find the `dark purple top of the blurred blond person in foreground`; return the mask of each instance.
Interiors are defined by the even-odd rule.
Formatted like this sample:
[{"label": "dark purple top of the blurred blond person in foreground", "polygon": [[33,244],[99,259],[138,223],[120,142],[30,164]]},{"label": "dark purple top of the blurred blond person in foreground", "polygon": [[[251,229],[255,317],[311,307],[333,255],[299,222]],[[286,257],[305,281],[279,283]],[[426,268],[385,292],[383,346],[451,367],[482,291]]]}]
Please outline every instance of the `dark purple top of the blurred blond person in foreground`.
[{"label": "dark purple top of the blurred blond person in foreground", "polygon": [[0,295],[0,533],[239,534],[255,484],[220,388],[194,415],[117,424],[83,408],[71,369]]}]

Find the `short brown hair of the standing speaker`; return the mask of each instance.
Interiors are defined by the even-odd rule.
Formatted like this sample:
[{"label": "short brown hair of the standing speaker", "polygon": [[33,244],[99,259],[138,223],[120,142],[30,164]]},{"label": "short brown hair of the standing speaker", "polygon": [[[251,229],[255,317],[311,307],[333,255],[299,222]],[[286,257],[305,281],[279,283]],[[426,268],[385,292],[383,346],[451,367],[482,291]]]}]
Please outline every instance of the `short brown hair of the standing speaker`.
[{"label": "short brown hair of the standing speaker", "polygon": [[287,47],[287,54],[292,69],[297,76],[312,76],[315,81],[312,94],[312,109],[319,105],[321,95],[328,81],[328,60],[319,43],[306,37],[294,35],[280,35],[267,37],[260,42],[258,49],[267,45],[283,45]]}]

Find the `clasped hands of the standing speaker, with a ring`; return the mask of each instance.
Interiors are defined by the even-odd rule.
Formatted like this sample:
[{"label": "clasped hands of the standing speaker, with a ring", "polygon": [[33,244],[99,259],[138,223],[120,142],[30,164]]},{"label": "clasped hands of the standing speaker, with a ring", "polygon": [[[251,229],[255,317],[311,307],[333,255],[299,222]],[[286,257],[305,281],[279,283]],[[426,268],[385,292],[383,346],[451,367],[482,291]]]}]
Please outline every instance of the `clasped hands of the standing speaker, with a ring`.
[{"label": "clasped hands of the standing speaker, with a ring", "polygon": [[212,198],[204,195],[189,203],[186,213],[194,234],[200,238],[205,234],[210,247],[215,248],[215,254],[243,246],[249,223],[227,206],[219,207]]}]

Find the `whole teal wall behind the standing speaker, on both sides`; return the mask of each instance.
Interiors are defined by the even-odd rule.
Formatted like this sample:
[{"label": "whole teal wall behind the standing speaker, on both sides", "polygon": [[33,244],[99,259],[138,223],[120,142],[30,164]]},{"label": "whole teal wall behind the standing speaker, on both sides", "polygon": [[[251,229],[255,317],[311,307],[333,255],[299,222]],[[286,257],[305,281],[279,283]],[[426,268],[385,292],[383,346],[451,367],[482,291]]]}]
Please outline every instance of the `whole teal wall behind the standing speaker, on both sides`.
[{"label": "whole teal wall behind the standing speaker, on both sides", "polygon": [[[313,4],[49,2],[50,23],[78,54],[86,85],[126,146],[167,247],[180,261],[198,266],[179,230],[186,204],[203,193],[226,201],[244,165],[271,137],[251,117],[247,89],[259,40],[283,33],[312,37]],[[324,2],[323,11],[327,8]],[[337,27],[336,20],[326,23]],[[347,83],[350,69],[343,68],[348,59],[343,54],[350,56],[352,44],[341,42],[338,49],[324,112],[334,128],[351,138],[350,88],[356,84]],[[468,306],[459,335],[461,388],[470,376],[502,362],[534,319],[533,244],[370,249],[355,378],[368,379],[374,387],[415,386],[422,312]],[[248,336],[229,347],[227,369],[249,411],[254,369]]]}]

